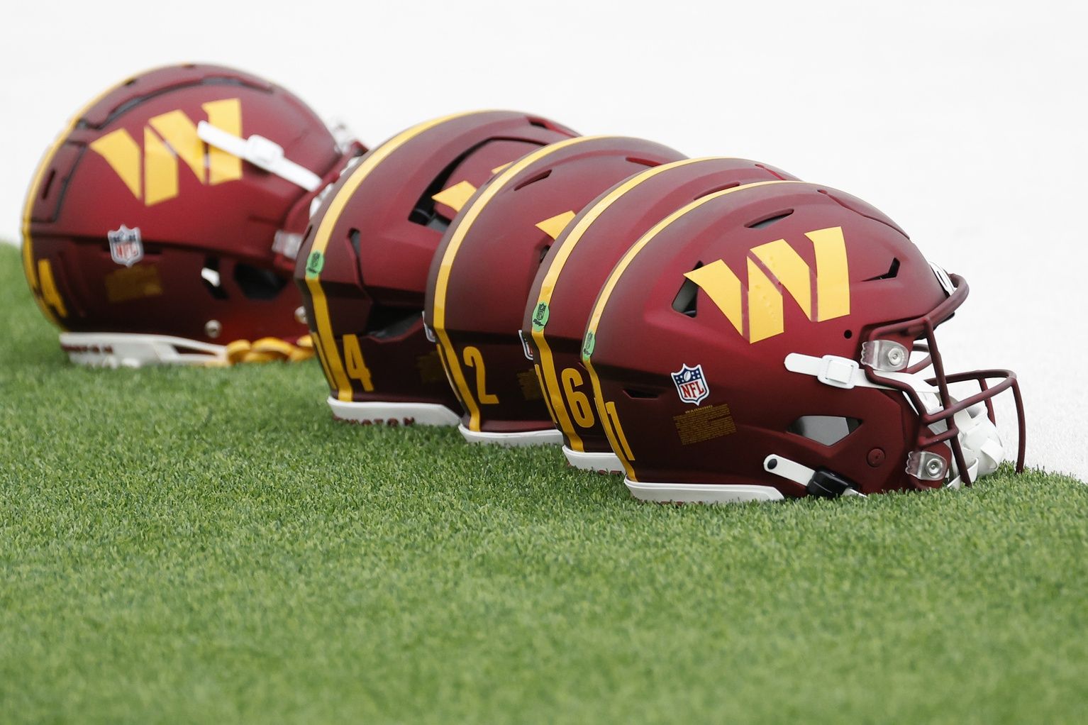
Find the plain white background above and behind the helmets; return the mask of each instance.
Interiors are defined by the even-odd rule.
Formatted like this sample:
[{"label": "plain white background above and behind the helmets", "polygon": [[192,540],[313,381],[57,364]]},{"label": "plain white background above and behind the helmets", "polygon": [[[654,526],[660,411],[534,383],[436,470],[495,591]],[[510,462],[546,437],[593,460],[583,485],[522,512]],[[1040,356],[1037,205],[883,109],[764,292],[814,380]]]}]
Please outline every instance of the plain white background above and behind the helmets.
[{"label": "plain white background above and behind the helmets", "polygon": [[514,108],[747,157],[870,201],[966,277],[970,298],[939,335],[950,369],[1016,370],[1029,463],[1088,479],[1085,8],[8,3],[0,238],[16,238],[38,157],[76,109],[182,61],[269,77],[370,145],[448,112]]}]

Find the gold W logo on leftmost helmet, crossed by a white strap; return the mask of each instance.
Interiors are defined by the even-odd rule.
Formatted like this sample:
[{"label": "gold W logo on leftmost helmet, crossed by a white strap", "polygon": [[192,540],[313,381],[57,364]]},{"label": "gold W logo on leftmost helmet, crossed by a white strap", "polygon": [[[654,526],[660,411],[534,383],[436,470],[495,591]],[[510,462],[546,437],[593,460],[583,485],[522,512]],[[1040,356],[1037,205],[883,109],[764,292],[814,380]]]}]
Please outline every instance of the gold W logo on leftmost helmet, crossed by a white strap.
[{"label": "gold W logo on leftmost helmet, crossed by a white strap", "polygon": [[[242,102],[237,98],[203,103],[208,123],[242,135]],[[177,196],[177,160],[196,174],[201,184],[222,184],[242,179],[242,159],[205,145],[197,124],[182,111],[162,113],[144,126],[144,148],[124,128],[106,134],[90,144],[116,172],[121,181],[145,206]],[[207,164],[205,163],[207,159]]]}]

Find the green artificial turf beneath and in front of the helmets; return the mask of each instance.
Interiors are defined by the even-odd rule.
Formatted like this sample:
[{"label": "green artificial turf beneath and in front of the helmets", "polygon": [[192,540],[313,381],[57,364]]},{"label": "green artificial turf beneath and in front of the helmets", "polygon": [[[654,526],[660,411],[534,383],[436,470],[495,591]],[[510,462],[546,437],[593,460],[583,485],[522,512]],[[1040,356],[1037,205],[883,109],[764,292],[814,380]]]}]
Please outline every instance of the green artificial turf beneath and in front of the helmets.
[{"label": "green artificial turf beneath and in front of the helmets", "polygon": [[312,362],[70,366],[4,247],[0,305],[0,721],[1088,720],[1073,479],[645,505]]}]

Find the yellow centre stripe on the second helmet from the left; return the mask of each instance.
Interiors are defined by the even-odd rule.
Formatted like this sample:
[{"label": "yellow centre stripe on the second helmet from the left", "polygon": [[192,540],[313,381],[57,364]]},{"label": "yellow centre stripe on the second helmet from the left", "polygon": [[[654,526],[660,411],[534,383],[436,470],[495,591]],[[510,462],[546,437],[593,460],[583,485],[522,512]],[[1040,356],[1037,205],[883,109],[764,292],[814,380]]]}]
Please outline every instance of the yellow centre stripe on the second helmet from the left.
[{"label": "yellow centre stripe on the second helmet from the left", "polygon": [[[336,226],[344,207],[347,206],[348,200],[355,195],[356,189],[359,188],[362,182],[378,168],[378,164],[423,132],[447,121],[477,112],[452,113],[431,121],[424,121],[401,131],[364,156],[362,161],[351,170],[351,173],[344,182],[344,185],[336,192],[332,202],[329,205],[329,209],[321,218],[321,223],[313,235],[313,246],[310,248],[310,255],[317,251],[324,257],[325,250],[329,248],[329,242],[332,238],[333,229]],[[344,369],[344,360],[341,359],[339,351],[336,347],[336,336],[333,334],[332,320],[329,317],[329,302],[325,299],[324,290],[321,287],[321,272],[319,271],[312,275],[307,274],[306,286],[310,290],[310,297],[313,305],[313,321],[317,328],[317,343],[322,353],[322,360],[325,362],[326,370],[331,373],[332,381],[336,385],[337,400],[349,402],[351,400],[351,382]]]}]

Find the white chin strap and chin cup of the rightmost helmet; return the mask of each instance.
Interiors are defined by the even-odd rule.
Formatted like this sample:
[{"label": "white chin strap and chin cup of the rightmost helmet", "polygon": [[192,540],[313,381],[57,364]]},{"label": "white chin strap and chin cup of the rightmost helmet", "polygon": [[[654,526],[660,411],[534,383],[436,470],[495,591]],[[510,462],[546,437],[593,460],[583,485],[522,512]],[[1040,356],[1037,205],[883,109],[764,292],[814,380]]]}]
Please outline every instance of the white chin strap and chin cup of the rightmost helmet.
[{"label": "white chin strap and chin cup of the rightmost helmet", "polygon": [[[851,390],[853,388],[875,388],[878,390],[895,390],[889,385],[881,385],[868,379],[865,370],[862,369],[857,360],[851,360],[837,355],[825,355],[814,357],[791,353],[786,356],[786,369],[790,372],[813,376],[821,383],[832,388]],[[934,414],[941,409],[939,390],[925,381],[917,373],[891,372],[877,370],[876,374],[887,380],[894,380],[910,385],[922,398],[926,406],[926,413]],[[998,468],[998,464],[1004,455],[1004,446],[998,435],[998,429],[990,421],[986,414],[986,405],[978,403],[953,415],[956,428],[960,429],[960,445],[963,448],[964,460],[967,464],[967,472],[970,480],[977,480],[980,476],[992,474]],[[930,427],[934,432],[948,430],[945,423],[939,422]],[[951,446],[949,446],[951,447]],[[774,462],[774,465],[769,465]],[[815,470],[780,455],[772,454],[764,460],[764,469],[768,472],[781,476],[807,486],[813,479]],[[912,472],[910,469],[907,472]],[[938,478],[939,480],[939,478]],[[956,468],[953,457],[951,469],[944,476],[945,486],[959,488],[961,486],[960,471]]]}]

